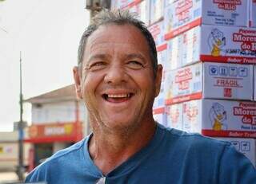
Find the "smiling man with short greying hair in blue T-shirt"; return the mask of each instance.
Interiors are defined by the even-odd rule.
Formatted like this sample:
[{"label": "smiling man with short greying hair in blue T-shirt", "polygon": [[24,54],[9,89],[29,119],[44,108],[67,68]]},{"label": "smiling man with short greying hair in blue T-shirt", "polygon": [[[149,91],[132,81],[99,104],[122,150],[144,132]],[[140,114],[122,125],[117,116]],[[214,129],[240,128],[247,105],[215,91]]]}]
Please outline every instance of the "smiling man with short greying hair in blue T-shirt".
[{"label": "smiling man with short greying hair in blue T-shirt", "polygon": [[73,72],[93,133],[47,159],[26,182],[256,183],[254,166],[230,143],[154,121],[162,65],[153,37],[132,14],[99,13],[82,35]]}]

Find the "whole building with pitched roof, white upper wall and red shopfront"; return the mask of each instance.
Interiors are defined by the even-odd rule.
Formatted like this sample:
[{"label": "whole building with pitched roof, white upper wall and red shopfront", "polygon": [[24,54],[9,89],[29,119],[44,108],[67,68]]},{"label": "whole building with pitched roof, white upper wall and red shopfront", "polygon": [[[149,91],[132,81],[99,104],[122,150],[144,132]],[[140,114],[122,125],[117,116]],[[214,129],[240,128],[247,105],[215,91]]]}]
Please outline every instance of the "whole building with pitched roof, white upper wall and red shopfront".
[{"label": "whole building with pitched roof, white upper wall and red shopfront", "polygon": [[25,140],[33,144],[30,169],[90,132],[86,108],[77,100],[74,85],[35,96],[26,102],[32,104],[29,138]]}]

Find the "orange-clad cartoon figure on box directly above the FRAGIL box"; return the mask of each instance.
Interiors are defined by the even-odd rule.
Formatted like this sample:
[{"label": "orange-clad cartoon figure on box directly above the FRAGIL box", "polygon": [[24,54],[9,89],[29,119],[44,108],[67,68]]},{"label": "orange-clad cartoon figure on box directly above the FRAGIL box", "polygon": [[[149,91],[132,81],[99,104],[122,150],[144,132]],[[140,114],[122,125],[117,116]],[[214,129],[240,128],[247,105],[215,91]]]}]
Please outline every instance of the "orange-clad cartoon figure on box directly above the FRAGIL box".
[{"label": "orange-clad cartoon figure on box directly above the FRAGIL box", "polygon": [[211,55],[218,57],[221,55],[222,47],[226,45],[226,37],[219,29],[212,29],[208,37],[208,44],[211,49]]}]

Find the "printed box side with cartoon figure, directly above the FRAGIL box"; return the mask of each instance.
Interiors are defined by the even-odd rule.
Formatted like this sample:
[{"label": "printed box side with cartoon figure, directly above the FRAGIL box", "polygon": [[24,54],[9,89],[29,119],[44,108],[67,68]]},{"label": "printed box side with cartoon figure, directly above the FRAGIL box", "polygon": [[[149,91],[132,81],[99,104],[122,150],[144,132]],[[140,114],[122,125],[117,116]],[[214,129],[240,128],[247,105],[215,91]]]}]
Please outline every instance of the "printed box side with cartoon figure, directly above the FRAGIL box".
[{"label": "printed box side with cartoon figure, directly above the FRAGIL box", "polygon": [[201,61],[256,63],[256,29],[202,25],[201,33]]}]

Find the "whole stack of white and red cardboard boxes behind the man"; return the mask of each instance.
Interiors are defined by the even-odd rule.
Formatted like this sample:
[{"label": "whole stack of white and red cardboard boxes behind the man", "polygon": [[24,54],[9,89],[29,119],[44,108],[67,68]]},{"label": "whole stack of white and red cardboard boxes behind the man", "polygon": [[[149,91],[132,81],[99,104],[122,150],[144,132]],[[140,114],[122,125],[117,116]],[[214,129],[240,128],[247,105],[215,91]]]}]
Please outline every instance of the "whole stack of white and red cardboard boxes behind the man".
[{"label": "whole stack of white and red cardboard boxes behind the man", "polygon": [[256,1],[113,2],[137,12],[156,42],[164,69],[154,118],[230,141],[255,166]]}]

